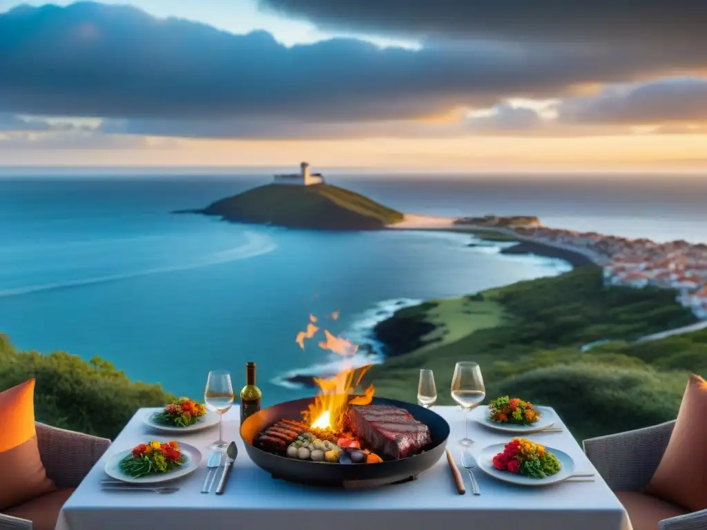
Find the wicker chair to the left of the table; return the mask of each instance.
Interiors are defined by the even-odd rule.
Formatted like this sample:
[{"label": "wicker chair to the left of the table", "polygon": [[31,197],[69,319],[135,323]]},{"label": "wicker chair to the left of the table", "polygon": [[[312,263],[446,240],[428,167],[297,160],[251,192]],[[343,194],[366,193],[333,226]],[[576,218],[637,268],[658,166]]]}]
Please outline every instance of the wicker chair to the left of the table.
[{"label": "wicker chair to the left of the table", "polygon": [[47,476],[57,490],[4,510],[0,529],[53,530],[64,502],[110,445],[110,440],[36,423]]}]

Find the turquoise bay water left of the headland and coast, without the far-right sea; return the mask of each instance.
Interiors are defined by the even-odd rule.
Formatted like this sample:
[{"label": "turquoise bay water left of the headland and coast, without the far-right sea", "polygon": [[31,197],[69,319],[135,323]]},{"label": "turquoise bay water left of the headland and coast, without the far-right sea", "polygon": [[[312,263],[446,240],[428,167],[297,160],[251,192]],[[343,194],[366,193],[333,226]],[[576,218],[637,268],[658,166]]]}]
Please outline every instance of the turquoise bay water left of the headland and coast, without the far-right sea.
[{"label": "turquoise bay water left of the headland and coast, without the far-right sea", "polygon": [[[324,233],[171,215],[252,182],[0,182],[0,330],[20,348],[100,355],[179,394],[206,372],[240,386],[256,360],[265,401],[307,390],[278,377],[326,364],[295,337],[310,313],[360,338],[391,300],[451,297],[566,269],[500,257],[468,236]],[[323,319],[324,320],[324,319]]]}]

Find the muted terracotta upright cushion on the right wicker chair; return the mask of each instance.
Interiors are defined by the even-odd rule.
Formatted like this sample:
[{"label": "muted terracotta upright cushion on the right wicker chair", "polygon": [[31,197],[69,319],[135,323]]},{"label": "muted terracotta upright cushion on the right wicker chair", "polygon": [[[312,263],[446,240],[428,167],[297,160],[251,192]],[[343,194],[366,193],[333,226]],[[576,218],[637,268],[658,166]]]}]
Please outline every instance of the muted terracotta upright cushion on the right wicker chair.
[{"label": "muted terracotta upright cushion on the right wicker chair", "polygon": [[707,382],[691,375],[675,427],[645,493],[690,512],[707,508]]}]

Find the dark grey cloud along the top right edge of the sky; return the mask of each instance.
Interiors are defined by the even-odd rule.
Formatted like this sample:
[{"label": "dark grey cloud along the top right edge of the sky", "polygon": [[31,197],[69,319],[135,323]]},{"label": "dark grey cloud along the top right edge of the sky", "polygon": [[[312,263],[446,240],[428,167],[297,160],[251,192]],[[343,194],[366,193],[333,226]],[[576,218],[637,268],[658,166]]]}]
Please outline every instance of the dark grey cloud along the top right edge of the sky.
[{"label": "dark grey cloud along the top right edge of the sky", "polygon": [[707,0],[259,0],[325,28],[513,42],[640,42],[698,56]]}]

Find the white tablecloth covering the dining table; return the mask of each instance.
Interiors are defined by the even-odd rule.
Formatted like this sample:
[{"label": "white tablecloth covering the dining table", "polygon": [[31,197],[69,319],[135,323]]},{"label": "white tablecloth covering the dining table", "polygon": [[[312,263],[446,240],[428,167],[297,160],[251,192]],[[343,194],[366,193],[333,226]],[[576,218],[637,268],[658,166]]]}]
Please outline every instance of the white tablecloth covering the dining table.
[{"label": "white tablecloth covering the dining table", "polygon": [[[108,455],[146,440],[171,439],[169,435],[156,436],[144,425],[143,418],[153,410],[141,409],[130,420],[64,505],[57,530],[631,530],[626,512],[598,473],[594,482],[523,488],[497,481],[477,469],[481,495],[472,495],[456,444],[464,434],[464,415],[451,406],[433,410],[451,426],[448,447],[464,474],[466,495],[457,494],[445,457],[416,481],[370,490],[311,488],[276,480],[247,457],[235,410],[223,418],[224,439],[238,444],[238,459],[223,495],[199,493],[206,476],[207,446],[218,437],[217,428],[177,438],[203,449],[204,454],[201,469],[170,483],[180,486],[177,493],[100,490],[100,481],[108,478],[104,471]],[[473,421],[470,424],[470,435],[476,442],[474,453],[510,440],[510,435]],[[575,459],[575,473],[596,473],[566,430],[529,437],[570,454]]]}]

